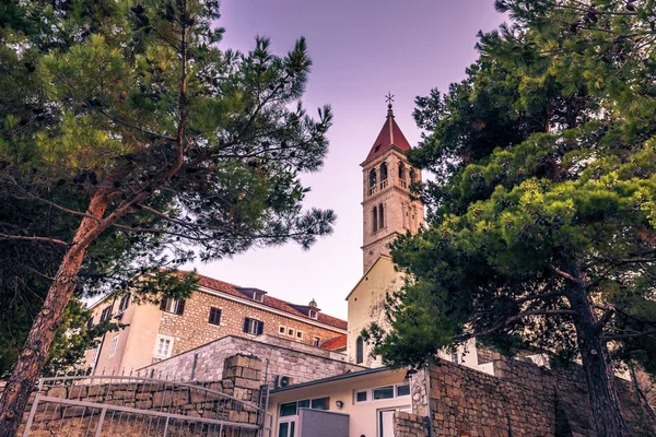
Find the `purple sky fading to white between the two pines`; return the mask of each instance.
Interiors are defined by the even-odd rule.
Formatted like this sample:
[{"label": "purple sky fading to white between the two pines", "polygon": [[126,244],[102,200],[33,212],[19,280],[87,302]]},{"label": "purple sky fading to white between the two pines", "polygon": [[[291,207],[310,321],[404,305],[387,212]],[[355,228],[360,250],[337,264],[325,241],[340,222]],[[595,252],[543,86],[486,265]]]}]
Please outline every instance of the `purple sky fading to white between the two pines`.
[{"label": "purple sky fading to white between the two pines", "polygon": [[477,57],[479,29],[504,17],[492,0],[223,0],[223,48],[242,51],[255,35],[271,37],[284,54],[300,36],[314,61],[304,104],[311,114],[332,106],[330,149],[321,172],[305,176],[306,206],[332,209],[335,233],[309,251],[290,244],[256,249],[208,264],[200,273],[298,303],[315,298],[323,311],[347,317],[348,293],[362,276],[362,173],[386,115],[385,94],[395,95],[396,120],[411,144],[414,97],[445,91],[465,76]]}]

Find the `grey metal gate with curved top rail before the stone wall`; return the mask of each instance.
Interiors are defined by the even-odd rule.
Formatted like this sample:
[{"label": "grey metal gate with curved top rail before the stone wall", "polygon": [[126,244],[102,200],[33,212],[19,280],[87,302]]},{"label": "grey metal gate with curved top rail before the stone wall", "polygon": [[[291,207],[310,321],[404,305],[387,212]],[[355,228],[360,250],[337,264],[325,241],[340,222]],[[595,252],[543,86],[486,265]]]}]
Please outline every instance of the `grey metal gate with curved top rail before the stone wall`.
[{"label": "grey metal gate with curved top rail before the stone wall", "polygon": [[23,437],[258,437],[266,406],[212,385],[131,376],[39,380]]}]

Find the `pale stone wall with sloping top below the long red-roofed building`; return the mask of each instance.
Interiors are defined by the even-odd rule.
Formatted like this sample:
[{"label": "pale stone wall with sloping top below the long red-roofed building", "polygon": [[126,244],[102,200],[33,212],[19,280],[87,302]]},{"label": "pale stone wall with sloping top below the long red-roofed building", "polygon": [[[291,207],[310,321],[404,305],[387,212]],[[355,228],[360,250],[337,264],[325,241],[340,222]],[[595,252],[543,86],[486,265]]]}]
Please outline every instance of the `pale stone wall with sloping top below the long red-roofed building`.
[{"label": "pale stone wall with sloping top below the long red-roofed building", "polygon": [[272,382],[276,376],[289,376],[290,383],[298,383],[348,371],[364,370],[362,366],[347,363],[343,354],[302,345],[284,339],[262,336],[263,339],[258,339],[262,342],[226,336],[141,368],[137,370],[137,374],[142,377],[152,375],[155,378],[186,381],[220,380],[223,375],[224,359],[237,353],[256,355],[265,363],[268,359],[269,382]]}]

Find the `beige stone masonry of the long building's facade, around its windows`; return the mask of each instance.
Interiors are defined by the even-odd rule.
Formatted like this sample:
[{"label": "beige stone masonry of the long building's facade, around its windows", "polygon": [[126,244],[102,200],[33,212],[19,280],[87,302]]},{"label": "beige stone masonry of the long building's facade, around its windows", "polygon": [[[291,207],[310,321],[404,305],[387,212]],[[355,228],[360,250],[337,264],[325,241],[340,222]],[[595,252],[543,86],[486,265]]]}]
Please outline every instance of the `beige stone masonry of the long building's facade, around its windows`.
[{"label": "beige stone masonry of the long building's facade, around its windows", "polygon": [[[221,309],[220,324],[209,323],[211,307]],[[323,343],[341,334],[337,329],[314,326],[309,320],[303,322],[204,292],[194,292],[185,303],[183,315],[162,311],[160,334],[173,336],[173,355],[177,355],[226,335],[256,338],[244,332],[246,317],[262,321],[263,333],[272,336],[284,336],[280,327],[292,328],[294,338],[290,339],[308,345],[314,344],[315,338]],[[298,331],[303,333],[302,339],[296,336]]]}]

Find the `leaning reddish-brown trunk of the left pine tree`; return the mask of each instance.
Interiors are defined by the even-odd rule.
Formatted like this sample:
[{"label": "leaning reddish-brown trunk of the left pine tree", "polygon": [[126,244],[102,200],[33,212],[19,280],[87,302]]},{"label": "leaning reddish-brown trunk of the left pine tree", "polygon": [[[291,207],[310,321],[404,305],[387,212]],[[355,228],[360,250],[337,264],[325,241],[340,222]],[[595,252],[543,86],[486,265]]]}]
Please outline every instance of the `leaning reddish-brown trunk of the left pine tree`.
[{"label": "leaning reddish-brown trunk of the left pine tree", "polygon": [[[91,199],[87,214],[101,218],[107,204],[107,197],[96,193]],[[21,424],[30,394],[43,374],[50,344],[63,319],[63,310],[75,291],[78,273],[92,240],[87,237],[97,233],[99,226],[96,218],[82,218],[73,243],[59,265],[44,306],[34,319],[19,361],[0,398],[0,437],[14,436]]]}]

